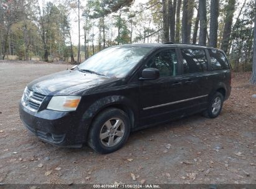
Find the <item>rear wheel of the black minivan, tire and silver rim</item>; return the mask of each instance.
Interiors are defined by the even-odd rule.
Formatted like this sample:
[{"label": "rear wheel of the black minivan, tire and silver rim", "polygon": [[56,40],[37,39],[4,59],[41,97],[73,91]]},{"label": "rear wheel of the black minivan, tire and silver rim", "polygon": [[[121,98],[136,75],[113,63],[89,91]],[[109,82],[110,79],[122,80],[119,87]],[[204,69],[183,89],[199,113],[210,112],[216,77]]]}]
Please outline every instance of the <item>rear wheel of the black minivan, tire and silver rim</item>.
[{"label": "rear wheel of the black minivan, tire and silver rim", "polygon": [[224,96],[216,92],[210,99],[208,108],[204,111],[203,115],[206,118],[216,118],[219,116],[224,102]]}]

